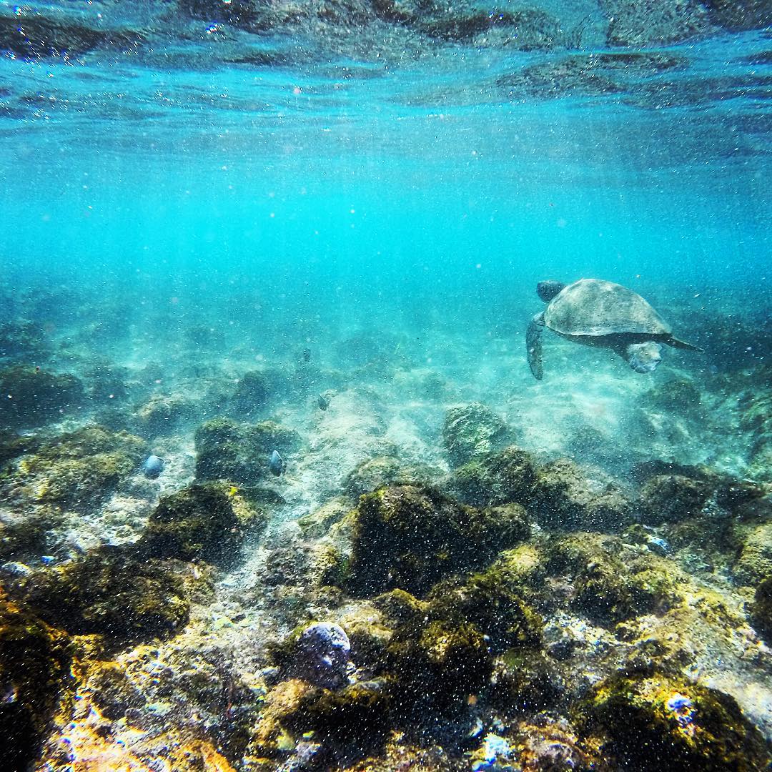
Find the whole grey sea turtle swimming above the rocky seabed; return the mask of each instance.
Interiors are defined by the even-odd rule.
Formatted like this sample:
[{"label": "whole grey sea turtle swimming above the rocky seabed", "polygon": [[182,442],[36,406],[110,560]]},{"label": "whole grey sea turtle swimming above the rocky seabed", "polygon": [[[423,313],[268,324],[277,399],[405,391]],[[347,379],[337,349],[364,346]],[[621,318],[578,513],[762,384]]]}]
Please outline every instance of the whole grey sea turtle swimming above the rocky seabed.
[{"label": "whole grey sea turtle swimming above the rocky seabed", "polygon": [[528,325],[526,347],[533,377],[541,380],[544,327],[585,346],[610,348],[637,373],[650,373],[662,359],[662,346],[702,351],[672,336],[669,324],[638,293],[602,279],[573,284],[540,282],[537,294],[549,303]]}]

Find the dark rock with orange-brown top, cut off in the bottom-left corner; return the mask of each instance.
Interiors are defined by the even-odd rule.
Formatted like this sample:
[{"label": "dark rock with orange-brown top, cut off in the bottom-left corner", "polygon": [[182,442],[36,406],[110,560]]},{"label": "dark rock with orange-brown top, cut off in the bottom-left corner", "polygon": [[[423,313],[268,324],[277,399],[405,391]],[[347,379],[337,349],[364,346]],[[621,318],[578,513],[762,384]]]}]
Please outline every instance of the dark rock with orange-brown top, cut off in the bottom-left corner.
[{"label": "dark rock with orange-brown top, cut off in the bottom-left corner", "polygon": [[0,590],[0,742],[3,768],[27,770],[71,680],[69,638]]}]

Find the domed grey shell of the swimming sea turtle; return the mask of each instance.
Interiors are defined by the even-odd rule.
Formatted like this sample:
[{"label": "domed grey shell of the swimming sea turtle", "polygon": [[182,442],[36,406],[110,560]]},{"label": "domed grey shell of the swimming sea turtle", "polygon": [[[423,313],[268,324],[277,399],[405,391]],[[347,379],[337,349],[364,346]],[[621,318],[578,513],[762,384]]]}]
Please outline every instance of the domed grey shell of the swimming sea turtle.
[{"label": "domed grey shell of the swimming sea turtle", "polygon": [[544,321],[561,335],[670,334],[665,320],[638,293],[601,279],[580,279],[562,289],[544,311]]}]

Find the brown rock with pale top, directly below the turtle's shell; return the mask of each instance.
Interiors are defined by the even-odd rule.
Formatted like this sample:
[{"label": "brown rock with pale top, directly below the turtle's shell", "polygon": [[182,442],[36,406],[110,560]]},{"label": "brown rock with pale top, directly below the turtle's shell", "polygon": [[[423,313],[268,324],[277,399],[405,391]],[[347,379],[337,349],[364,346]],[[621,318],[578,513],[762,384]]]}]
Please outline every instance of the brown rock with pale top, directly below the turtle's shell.
[{"label": "brown rock with pale top, directly below the turtle's shell", "polygon": [[541,524],[561,529],[615,531],[633,517],[631,501],[612,479],[590,474],[569,459],[540,467],[533,506]]}]

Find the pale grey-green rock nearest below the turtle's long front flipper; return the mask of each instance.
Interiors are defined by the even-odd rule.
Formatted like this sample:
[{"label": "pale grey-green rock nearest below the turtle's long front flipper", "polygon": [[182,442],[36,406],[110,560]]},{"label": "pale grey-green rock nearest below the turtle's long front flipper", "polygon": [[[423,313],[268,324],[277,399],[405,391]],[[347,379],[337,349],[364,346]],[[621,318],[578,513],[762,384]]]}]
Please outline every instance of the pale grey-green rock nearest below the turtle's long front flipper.
[{"label": "pale grey-green rock nearest below the turtle's long front flipper", "polygon": [[442,440],[453,466],[489,455],[506,445],[509,438],[503,420],[479,402],[451,408],[442,426]]}]

